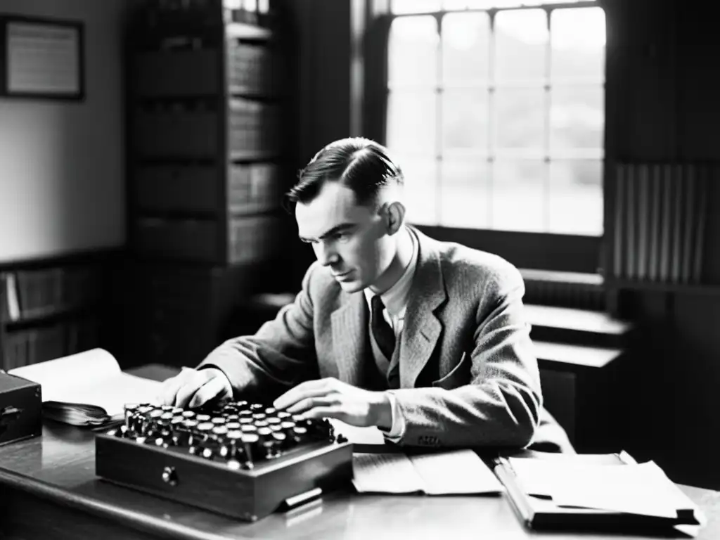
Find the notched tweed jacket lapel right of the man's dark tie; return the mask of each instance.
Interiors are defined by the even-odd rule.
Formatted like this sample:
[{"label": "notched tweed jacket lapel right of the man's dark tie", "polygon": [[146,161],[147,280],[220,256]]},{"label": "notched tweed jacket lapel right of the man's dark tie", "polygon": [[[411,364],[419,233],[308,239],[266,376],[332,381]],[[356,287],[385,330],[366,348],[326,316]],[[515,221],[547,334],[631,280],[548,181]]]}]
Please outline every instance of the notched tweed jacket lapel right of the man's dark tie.
[{"label": "notched tweed jacket lapel right of the man's dark tie", "polygon": [[438,249],[428,237],[410,230],[418,239],[419,253],[400,341],[401,388],[415,387],[415,380],[433,354],[442,332],[435,310],[447,297]]}]

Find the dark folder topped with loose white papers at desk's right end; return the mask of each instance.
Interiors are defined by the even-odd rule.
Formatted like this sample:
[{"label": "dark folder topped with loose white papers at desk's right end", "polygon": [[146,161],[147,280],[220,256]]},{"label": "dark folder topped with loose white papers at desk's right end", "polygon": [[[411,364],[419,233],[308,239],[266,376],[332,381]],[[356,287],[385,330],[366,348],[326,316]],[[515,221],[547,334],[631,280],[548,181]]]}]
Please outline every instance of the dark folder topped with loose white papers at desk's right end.
[{"label": "dark folder topped with loose white papers at desk's right end", "polygon": [[[705,522],[701,510],[680,489],[672,483],[660,467],[649,462],[638,464],[629,454],[546,454],[544,452],[525,451],[520,455],[528,462],[519,462],[512,456],[500,456],[494,460],[493,472],[505,487],[513,509],[528,528],[537,531],[577,530],[577,531],[667,531],[677,526],[702,526]],[[535,460],[539,460],[535,462]],[[513,462],[515,463],[513,466]],[[564,471],[570,482],[577,482],[582,474],[598,479],[598,492],[611,493],[615,490],[614,509],[602,508],[602,505],[588,504],[587,495],[593,498],[593,484],[586,482],[577,493],[579,500],[573,501],[570,490],[562,492],[562,483],[548,477],[546,485],[541,485],[541,475],[528,474],[535,467],[526,464],[540,465],[540,470],[547,464],[547,472]],[[518,467],[519,464],[523,467]],[[600,469],[600,467],[604,467]],[[608,468],[610,467],[610,468]],[[629,467],[620,469],[616,467]],[[606,472],[606,474],[602,474]],[[608,474],[611,473],[611,474]],[[653,500],[629,500],[630,505],[641,505],[642,509],[621,508],[627,492],[622,482],[616,479],[633,477],[643,474],[652,479],[654,490]],[[531,477],[532,476],[532,477]],[[601,480],[600,480],[601,479]],[[604,485],[600,487],[600,482]],[[558,486],[561,485],[559,489]],[[645,486],[647,489],[647,486]],[[663,494],[657,500],[657,492]],[[560,500],[555,496],[560,493]],[[598,494],[599,495],[599,494]],[[599,499],[599,498],[598,498]],[[620,502],[618,502],[620,501]],[[668,505],[672,512],[667,512]]]}]

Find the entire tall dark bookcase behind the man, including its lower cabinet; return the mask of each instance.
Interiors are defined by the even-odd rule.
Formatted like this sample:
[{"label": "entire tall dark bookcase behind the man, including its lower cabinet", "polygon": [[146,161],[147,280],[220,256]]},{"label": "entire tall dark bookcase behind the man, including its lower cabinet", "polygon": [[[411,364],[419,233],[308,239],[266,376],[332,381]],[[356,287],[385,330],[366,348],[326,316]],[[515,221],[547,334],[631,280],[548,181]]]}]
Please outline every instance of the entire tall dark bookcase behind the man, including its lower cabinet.
[{"label": "entire tall dark bookcase behind the man, including its lower cabinet", "polygon": [[292,85],[273,5],[251,4],[146,0],[131,14],[125,364],[197,364],[280,266]]}]

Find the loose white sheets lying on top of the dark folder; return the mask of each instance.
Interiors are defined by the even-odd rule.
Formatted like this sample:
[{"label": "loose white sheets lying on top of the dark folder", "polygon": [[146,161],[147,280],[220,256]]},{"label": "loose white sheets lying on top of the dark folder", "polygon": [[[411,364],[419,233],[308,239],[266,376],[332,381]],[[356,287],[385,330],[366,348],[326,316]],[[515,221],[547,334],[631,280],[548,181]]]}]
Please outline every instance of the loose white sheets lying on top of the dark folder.
[{"label": "loose white sheets lying on top of the dark folder", "polygon": [[675,518],[678,510],[696,509],[654,462],[604,465],[526,458],[509,461],[526,493],[552,497],[559,506],[662,518]]}]

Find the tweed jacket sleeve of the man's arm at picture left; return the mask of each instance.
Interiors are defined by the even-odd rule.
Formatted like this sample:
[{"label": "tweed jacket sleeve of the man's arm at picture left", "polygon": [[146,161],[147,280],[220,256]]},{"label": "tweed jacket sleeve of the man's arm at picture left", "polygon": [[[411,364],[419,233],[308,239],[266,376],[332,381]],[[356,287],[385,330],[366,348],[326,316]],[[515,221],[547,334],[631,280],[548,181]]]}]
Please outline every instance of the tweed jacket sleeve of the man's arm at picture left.
[{"label": "tweed jacket sleeve of the man's arm at picture left", "polygon": [[198,366],[225,373],[236,395],[272,399],[303,380],[317,377],[310,280],[316,264],[302,279],[294,302],[282,307],[254,336],[232,338],[215,348]]}]

